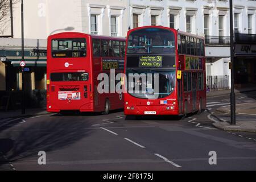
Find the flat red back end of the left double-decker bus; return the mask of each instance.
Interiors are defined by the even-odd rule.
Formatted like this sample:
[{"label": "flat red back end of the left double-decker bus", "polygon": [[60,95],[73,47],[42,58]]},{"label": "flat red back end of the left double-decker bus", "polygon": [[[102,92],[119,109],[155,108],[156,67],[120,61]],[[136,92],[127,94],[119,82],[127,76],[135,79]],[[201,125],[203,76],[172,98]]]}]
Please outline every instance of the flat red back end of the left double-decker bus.
[{"label": "flat red back end of the left double-decker bus", "polygon": [[93,111],[90,37],[76,32],[49,36],[47,111]]}]

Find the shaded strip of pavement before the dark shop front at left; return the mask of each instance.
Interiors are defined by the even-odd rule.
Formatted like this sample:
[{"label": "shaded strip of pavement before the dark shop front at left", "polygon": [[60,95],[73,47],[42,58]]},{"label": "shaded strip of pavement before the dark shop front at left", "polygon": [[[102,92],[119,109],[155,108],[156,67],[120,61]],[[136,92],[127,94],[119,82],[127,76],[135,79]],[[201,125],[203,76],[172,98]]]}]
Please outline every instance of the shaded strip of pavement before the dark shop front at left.
[{"label": "shaded strip of pavement before the dark shop front at left", "polygon": [[25,114],[22,114],[21,110],[9,110],[9,111],[1,111],[0,110],[0,119],[18,118],[18,117],[33,117],[36,115],[44,115],[44,114],[49,114],[46,111],[46,108],[26,109]]}]

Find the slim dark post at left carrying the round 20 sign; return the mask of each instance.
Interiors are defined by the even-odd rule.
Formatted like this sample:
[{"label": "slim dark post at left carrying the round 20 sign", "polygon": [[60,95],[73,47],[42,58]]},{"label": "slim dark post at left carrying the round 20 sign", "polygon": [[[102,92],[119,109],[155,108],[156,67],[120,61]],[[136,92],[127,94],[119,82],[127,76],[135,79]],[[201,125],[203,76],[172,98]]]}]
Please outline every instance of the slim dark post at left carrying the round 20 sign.
[{"label": "slim dark post at left carrying the round 20 sign", "polygon": [[[22,22],[22,61],[24,61],[24,22],[23,22],[23,0],[21,3],[21,22]],[[25,114],[25,92],[24,92],[24,67],[22,67],[22,114]]]}]

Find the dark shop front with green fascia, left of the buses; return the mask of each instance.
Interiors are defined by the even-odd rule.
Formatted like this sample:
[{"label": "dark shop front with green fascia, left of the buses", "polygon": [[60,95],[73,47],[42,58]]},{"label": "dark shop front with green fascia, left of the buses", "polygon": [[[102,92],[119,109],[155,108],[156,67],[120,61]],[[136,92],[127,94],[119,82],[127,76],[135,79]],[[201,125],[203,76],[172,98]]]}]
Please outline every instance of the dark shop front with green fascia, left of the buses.
[{"label": "dark shop front with green fascia, left of the buses", "polygon": [[[22,96],[21,49],[0,49],[0,97],[10,98],[9,108],[18,109]],[[46,105],[46,51],[25,49],[24,90],[27,107]]]}]

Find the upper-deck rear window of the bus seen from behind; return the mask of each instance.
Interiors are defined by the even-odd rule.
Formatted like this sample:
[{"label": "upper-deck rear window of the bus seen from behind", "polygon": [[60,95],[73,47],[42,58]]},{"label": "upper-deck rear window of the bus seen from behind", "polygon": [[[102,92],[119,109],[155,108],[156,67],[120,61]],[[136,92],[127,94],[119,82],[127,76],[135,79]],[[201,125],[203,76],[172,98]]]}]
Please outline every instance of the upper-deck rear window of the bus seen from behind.
[{"label": "upper-deck rear window of the bus seen from behind", "polygon": [[53,39],[52,57],[85,57],[86,39]]}]

